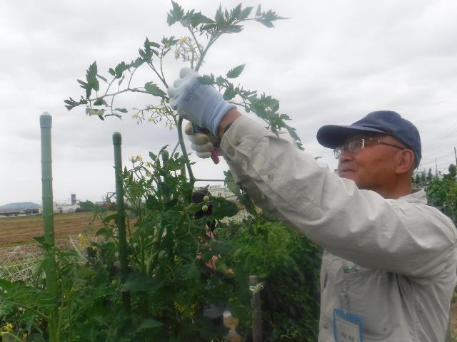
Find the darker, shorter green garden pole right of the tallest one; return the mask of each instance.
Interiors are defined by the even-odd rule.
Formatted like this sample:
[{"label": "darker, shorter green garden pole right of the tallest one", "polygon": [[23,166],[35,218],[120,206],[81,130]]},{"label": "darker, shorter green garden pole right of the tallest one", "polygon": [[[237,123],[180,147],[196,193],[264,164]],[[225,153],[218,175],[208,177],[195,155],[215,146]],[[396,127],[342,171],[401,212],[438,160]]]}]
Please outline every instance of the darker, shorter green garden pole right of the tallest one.
[{"label": "darker, shorter green garden pole right of the tallest one", "polygon": [[[116,207],[117,229],[119,234],[119,261],[121,261],[121,280],[124,282],[129,269],[127,265],[127,240],[126,240],[126,209],[124,206],[124,186],[122,185],[122,135],[119,132],[113,134],[114,145],[114,175],[116,177]],[[122,293],[124,306],[130,310],[129,292]]]}]

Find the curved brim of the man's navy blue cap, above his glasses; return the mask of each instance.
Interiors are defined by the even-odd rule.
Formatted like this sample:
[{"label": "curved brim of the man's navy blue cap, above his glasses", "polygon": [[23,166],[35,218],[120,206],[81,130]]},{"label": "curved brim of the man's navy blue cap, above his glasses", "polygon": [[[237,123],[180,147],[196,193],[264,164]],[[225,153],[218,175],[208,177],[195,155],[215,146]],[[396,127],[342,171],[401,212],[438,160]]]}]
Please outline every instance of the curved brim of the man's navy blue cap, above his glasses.
[{"label": "curved brim of the man's navy blue cap, above his glasses", "polygon": [[328,148],[336,148],[343,145],[347,138],[351,135],[361,132],[376,132],[383,133],[382,130],[365,126],[338,126],[338,125],[325,125],[317,131],[317,141],[323,146]]}]

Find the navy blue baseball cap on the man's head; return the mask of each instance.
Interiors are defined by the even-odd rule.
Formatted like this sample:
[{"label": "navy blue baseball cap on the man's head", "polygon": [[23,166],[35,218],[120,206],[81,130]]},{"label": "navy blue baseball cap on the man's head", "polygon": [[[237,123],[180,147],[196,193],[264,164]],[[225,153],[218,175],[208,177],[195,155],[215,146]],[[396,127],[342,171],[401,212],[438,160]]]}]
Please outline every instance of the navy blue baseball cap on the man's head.
[{"label": "navy blue baseball cap on the man's head", "polygon": [[377,110],[350,126],[325,125],[317,131],[317,141],[324,147],[343,145],[347,138],[356,133],[373,132],[391,135],[413,150],[416,167],[421,162],[421,137],[415,125],[391,110]]}]

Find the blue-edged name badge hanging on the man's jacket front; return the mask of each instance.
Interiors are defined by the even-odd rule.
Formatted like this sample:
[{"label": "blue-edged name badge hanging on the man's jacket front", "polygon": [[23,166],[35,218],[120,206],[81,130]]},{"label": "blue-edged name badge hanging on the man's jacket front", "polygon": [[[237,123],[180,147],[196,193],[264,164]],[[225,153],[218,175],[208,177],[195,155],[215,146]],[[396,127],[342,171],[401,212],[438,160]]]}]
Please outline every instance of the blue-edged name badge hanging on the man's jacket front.
[{"label": "blue-edged name badge hanging on the man's jacket front", "polygon": [[363,342],[363,326],[360,317],[333,310],[333,331],[336,342]]}]

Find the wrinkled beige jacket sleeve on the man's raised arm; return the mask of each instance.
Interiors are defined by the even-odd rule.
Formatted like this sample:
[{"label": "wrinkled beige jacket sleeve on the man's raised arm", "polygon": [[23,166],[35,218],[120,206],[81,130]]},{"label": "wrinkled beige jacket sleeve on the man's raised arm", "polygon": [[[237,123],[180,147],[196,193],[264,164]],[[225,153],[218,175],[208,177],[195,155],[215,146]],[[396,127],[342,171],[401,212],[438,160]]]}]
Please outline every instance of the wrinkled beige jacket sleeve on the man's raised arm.
[{"label": "wrinkled beige jacket sleeve on the man's raised arm", "polygon": [[235,180],[274,217],[331,254],[368,269],[430,277],[453,259],[456,232],[420,201],[385,199],[358,190],[276,135],[243,116],[221,142]]}]

